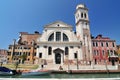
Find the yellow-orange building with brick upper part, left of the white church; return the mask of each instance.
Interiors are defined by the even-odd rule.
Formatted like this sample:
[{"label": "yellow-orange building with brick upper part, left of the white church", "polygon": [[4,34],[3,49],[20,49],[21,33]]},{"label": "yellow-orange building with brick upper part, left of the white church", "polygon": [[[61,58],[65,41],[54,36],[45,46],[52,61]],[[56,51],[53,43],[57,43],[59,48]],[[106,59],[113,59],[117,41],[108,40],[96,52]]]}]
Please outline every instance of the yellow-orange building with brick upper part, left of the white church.
[{"label": "yellow-orange building with brick upper part, left of the white church", "polygon": [[18,41],[14,40],[12,45],[8,48],[8,63],[28,63],[34,64],[36,59],[36,40],[41,35],[38,32],[29,34],[27,32],[20,32]]}]

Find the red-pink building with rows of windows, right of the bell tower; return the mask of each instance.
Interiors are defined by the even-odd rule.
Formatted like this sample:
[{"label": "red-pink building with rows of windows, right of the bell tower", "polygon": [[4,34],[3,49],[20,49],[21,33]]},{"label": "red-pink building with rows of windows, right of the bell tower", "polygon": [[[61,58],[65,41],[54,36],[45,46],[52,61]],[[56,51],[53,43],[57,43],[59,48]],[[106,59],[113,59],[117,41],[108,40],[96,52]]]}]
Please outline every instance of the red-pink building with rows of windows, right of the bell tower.
[{"label": "red-pink building with rows of windows, right of the bell tower", "polygon": [[92,39],[93,59],[95,64],[104,64],[105,62],[115,65],[116,58],[116,41],[108,37],[98,35]]}]

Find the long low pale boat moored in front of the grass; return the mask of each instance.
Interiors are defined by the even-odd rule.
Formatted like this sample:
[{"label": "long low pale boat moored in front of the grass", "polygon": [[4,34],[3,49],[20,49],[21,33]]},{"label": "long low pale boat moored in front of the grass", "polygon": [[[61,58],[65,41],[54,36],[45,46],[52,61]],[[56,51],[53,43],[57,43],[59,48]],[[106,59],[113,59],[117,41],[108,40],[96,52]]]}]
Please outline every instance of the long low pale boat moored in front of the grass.
[{"label": "long low pale boat moored in front of the grass", "polygon": [[22,72],[22,76],[40,76],[40,75],[49,75],[51,71],[49,70],[32,70],[28,72]]}]

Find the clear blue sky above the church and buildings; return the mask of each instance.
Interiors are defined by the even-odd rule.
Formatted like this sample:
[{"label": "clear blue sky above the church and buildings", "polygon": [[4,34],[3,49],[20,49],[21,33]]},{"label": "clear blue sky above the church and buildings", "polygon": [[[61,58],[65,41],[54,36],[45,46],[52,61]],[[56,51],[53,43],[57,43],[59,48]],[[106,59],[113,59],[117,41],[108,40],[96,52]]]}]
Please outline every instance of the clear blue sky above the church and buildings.
[{"label": "clear blue sky above the church and buildings", "polygon": [[74,27],[78,4],[89,9],[90,31],[120,44],[120,0],[0,0],[0,49],[8,49],[19,32],[42,33],[44,26],[63,21]]}]

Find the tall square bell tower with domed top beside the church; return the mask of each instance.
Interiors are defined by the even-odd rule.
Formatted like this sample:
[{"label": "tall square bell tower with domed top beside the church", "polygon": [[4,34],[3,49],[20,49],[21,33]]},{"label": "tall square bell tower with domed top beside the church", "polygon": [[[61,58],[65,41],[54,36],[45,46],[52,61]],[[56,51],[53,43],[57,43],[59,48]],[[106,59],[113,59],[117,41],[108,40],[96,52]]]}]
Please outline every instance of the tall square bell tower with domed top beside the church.
[{"label": "tall square bell tower with domed top beside the church", "polygon": [[92,61],[92,46],[88,9],[84,4],[76,6],[75,23],[76,36],[78,40],[82,41],[83,60],[86,61],[87,64],[89,61]]}]

